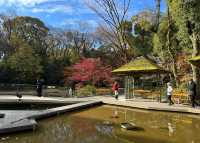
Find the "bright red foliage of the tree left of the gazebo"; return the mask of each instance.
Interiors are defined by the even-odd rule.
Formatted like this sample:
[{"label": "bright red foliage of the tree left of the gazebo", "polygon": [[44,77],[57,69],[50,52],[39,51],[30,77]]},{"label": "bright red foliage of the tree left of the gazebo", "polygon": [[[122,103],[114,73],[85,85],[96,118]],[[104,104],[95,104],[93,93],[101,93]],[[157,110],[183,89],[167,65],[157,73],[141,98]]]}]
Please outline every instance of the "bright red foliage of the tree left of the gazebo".
[{"label": "bright red foliage of the tree left of the gazebo", "polygon": [[111,83],[110,66],[104,66],[100,59],[88,58],[72,66],[71,80],[79,82],[91,82],[97,85],[100,82]]}]

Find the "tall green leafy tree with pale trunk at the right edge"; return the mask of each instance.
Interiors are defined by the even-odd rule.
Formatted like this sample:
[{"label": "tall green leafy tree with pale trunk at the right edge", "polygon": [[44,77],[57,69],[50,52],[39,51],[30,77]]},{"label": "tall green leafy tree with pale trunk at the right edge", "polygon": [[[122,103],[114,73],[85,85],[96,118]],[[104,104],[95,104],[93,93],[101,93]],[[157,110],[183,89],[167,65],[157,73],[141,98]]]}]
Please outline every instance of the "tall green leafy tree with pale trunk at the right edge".
[{"label": "tall green leafy tree with pale trunk at the right edge", "polygon": [[[182,43],[192,43],[192,57],[200,54],[200,1],[199,0],[168,0],[172,17],[179,27],[179,37]],[[188,45],[189,47],[189,45]],[[200,86],[200,73],[192,65],[193,80]],[[197,88],[199,90],[199,88]],[[197,91],[200,95],[200,90]]]}]

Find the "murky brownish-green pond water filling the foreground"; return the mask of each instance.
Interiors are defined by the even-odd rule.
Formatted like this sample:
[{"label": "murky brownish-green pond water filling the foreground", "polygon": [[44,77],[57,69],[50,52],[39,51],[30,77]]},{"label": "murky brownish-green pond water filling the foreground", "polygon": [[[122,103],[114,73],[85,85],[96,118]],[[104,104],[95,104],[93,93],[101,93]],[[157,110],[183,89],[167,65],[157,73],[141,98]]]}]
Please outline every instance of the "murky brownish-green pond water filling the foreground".
[{"label": "murky brownish-green pond water filling the foreground", "polygon": [[[122,122],[138,130],[122,129]],[[35,131],[4,135],[0,142],[200,143],[200,117],[105,105],[39,121]]]}]

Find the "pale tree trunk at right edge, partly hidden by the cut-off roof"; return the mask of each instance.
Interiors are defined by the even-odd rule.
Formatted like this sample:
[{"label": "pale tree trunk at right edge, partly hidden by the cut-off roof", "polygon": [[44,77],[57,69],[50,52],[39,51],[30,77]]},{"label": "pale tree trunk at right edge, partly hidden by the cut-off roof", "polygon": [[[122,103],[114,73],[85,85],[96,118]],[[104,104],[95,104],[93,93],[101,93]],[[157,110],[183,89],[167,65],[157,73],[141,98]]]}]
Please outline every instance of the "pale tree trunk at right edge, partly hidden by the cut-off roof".
[{"label": "pale tree trunk at right edge, partly hidden by the cut-off roof", "polygon": [[[195,57],[199,54],[199,45],[198,45],[197,35],[195,32],[192,33],[192,35],[190,36],[190,39],[192,41],[192,46],[193,46],[192,57]],[[194,66],[194,65],[191,65],[191,66],[192,66],[192,72],[193,72],[193,80],[197,85],[197,96],[199,99],[199,97],[200,97],[200,89],[199,89],[199,87],[200,87],[200,72],[196,66]]]}]

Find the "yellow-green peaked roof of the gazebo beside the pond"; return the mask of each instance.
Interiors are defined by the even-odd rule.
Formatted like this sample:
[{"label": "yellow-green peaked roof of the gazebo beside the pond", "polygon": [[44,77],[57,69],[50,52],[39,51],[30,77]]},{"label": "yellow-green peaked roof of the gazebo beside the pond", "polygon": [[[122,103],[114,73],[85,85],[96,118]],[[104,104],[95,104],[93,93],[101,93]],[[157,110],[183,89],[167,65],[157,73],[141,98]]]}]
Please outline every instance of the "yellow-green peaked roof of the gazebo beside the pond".
[{"label": "yellow-green peaked roof of the gazebo beside the pond", "polygon": [[162,67],[155,64],[153,61],[145,58],[138,57],[135,60],[123,65],[122,67],[112,71],[114,74],[160,74],[169,73]]}]

